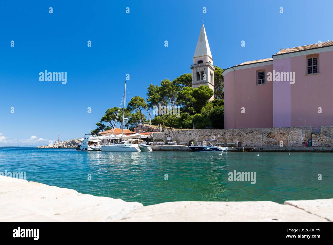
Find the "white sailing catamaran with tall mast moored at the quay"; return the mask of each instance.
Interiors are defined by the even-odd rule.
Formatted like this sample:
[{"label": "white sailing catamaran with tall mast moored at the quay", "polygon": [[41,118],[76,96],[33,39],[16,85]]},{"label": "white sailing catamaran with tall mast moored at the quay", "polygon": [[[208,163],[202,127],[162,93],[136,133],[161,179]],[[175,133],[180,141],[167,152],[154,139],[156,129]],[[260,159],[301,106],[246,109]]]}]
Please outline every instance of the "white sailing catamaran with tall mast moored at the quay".
[{"label": "white sailing catamaran with tall mast moored at the quay", "polygon": [[[130,140],[122,141],[122,137],[124,136],[123,131],[124,131],[124,120],[125,120],[126,81],[125,81],[123,99],[124,99],[123,123],[122,123],[122,136],[120,139],[120,143],[113,144],[113,143],[109,142],[109,144],[107,144],[107,145],[102,145],[102,147],[101,147],[102,151],[121,151],[121,152],[140,152],[141,151],[138,144],[132,144],[132,141],[130,141]],[[117,122],[118,116],[119,116],[119,111],[117,113],[115,122]],[[115,123],[115,125],[116,125],[116,123]],[[114,127],[115,127],[115,125],[114,125]],[[113,131],[112,131],[112,133],[113,133]]]}]

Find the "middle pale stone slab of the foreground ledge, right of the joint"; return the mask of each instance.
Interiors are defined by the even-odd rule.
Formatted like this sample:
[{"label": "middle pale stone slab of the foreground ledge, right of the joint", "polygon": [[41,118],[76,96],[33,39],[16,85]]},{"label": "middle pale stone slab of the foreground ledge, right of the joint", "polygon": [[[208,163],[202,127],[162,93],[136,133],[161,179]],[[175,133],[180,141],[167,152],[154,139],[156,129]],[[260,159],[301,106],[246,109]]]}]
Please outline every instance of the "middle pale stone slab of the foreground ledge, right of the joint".
[{"label": "middle pale stone slab of the foreground ledge, right of the joint", "polygon": [[328,222],[271,201],[166,202],[139,208],[119,222]]}]

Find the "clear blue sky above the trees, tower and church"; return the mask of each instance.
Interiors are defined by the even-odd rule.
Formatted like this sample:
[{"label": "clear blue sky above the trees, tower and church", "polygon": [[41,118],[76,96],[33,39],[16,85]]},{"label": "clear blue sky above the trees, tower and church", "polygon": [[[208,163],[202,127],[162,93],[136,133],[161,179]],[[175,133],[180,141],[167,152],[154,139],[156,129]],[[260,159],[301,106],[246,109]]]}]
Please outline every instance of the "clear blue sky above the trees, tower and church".
[{"label": "clear blue sky above the trees, tower and church", "polygon": [[[108,108],[119,106],[126,74],[130,95],[146,98],[150,83],[190,73],[202,19],[213,64],[227,68],[269,58],[280,48],[332,40],[332,5],[1,1],[0,146],[45,145],[58,135],[60,140],[83,137]],[[39,81],[44,70],[67,72],[67,83]]]}]

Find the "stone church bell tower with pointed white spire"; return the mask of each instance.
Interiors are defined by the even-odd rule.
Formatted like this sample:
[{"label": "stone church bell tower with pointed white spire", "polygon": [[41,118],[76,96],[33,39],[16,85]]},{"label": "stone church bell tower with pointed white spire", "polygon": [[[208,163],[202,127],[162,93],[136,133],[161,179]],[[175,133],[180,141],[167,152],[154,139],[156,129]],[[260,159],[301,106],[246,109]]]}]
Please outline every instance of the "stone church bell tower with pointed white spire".
[{"label": "stone church bell tower with pointed white spire", "polygon": [[[202,24],[198,42],[196,44],[192,69],[192,87],[207,85],[214,90],[214,71],[213,58],[211,57],[205,26]],[[213,96],[209,99],[212,101]]]}]

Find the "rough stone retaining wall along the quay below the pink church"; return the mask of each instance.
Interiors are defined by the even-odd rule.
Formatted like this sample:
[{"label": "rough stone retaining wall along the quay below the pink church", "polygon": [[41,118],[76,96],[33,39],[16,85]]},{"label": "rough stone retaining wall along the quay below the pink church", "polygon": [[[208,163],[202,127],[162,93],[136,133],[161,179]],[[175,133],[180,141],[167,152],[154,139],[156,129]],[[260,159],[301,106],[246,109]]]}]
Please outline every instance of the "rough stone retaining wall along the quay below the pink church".
[{"label": "rough stone retaining wall along the quay below the pink church", "polygon": [[[202,142],[204,139],[216,140],[222,143],[236,143],[236,146],[305,146],[312,139],[313,127],[289,128],[249,128],[249,129],[194,129],[194,130],[165,130],[166,137],[171,141]],[[155,134],[154,134],[155,138]],[[282,146],[282,145],[281,145]]]}]

